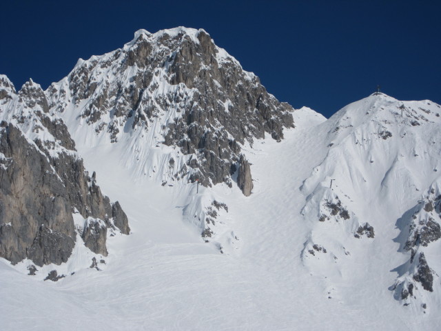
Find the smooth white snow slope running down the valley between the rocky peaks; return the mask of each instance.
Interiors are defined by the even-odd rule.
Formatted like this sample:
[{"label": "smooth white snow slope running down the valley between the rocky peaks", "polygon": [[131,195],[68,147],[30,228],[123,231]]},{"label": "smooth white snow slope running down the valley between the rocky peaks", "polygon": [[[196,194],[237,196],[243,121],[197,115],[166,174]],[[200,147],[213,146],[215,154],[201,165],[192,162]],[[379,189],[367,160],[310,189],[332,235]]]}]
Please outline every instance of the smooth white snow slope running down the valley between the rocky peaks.
[{"label": "smooth white snow slope running down the valley between the rocky peaks", "polygon": [[[301,214],[307,197],[300,187],[327,156],[329,122],[307,108],[294,117],[298,127],[280,143],[245,148],[250,197],[236,185],[199,188],[228,205],[219,221],[238,241],[224,254],[183,221],[195,185],[136,180],[118,148],[80,144],[103,192],[123,206],[132,234],[108,241],[102,272],[85,269],[57,283],[34,281],[3,260],[1,330],[436,330],[439,306],[421,314],[388,290],[396,278],[389,265],[399,255],[382,251],[399,248],[393,225],[373,242],[353,245],[336,268],[305,265],[300,256],[315,221]],[[338,236],[338,228],[329,231]]]}]

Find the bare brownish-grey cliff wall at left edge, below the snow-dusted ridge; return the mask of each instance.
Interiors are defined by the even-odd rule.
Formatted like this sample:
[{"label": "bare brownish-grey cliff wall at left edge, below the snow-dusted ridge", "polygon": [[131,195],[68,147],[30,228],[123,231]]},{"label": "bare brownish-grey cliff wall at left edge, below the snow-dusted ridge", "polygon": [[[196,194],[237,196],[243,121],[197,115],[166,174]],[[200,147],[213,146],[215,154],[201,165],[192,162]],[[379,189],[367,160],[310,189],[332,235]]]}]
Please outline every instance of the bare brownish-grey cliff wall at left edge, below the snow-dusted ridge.
[{"label": "bare brownish-grey cliff wall at left edge, below the snow-dusted ridge", "polygon": [[0,151],[8,166],[0,168],[0,256],[12,263],[28,257],[40,266],[65,262],[75,232],[63,183],[18,128],[2,123]]}]

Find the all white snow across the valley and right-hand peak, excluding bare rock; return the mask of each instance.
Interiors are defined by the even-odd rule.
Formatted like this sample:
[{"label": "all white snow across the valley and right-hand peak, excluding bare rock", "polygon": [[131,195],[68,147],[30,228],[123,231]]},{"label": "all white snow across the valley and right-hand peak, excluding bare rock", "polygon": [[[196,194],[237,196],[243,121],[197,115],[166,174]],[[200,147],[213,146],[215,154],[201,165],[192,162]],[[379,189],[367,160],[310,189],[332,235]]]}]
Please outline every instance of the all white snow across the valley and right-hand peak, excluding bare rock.
[{"label": "all white snow across the valley and right-hand peak, excluding bare rock", "polygon": [[[108,241],[105,270],[85,268],[56,283],[1,260],[1,329],[438,330],[438,275],[424,311],[422,301],[404,306],[389,288],[393,270],[409,259],[398,252],[396,222],[440,177],[440,112],[431,101],[384,94],[328,120],[296,110],[296,128],[283,141],[243,147],[252,163],[250,197],[235,184],[196,193],[196,184],[171,182],[176,163],[189,156],[163,146],[155,130],[110,143],[65,112],[86,168],[120,201],[132,232]],[[146,153],[142,165],[137,148]],[[218,212],[205,243],[201,222],[214,200],[228,212]],[[318,221],[338,200],[350,218]],[[364,223],[373,239],[354,237]],[[310,254],[314,244],[327,252]],[[440,274],[439,250],[427,249]]]}]

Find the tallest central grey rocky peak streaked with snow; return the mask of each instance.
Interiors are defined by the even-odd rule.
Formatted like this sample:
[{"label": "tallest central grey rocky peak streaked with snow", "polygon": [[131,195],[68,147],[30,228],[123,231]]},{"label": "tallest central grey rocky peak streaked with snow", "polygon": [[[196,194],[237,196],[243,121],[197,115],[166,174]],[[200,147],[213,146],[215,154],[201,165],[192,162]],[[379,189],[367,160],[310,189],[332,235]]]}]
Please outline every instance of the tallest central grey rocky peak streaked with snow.
[{"label": "tallest central grey rocky peak streaked with snow", "polygon": [[[125,141],[123,159],[136,176],[163,183],[197,179],[205,186],[232,185],[238,176],[245,195],[253,185],[241,146],[265,134],[283,139],[283,128],[294,127],[293,108],[269,94],[204,30],[139,30],[119,50],[80,59],[45,93],[75,141],[88,134],[96,144]],[[184,155],[163,155],[172,174],[152,171],[148,161],[161,145]]]}]

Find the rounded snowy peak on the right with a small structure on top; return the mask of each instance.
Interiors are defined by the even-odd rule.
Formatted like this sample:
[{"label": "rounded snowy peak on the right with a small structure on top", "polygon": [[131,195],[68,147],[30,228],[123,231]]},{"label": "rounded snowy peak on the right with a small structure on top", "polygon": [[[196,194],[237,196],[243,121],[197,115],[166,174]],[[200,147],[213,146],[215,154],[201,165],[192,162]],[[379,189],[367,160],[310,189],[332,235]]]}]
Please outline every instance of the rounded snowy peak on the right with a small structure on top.
[{"label": "rounded snowy peak on the right with a small structure on top", "polygon": [[[302,215],[311,222],[302,251],[307,268],[342,274],[353,251],[365,259],[390,254],[384,272],[398,273],[389,288],[394,297],[424,312],[428,301],[438,302],[429,292],[441,290],[439,259],[428,248],[440,238],[440,113],[431,101],[373,94],[315,128],[324,158],[300,188]],[[400,265],[399,254],[408,261]]]}]

